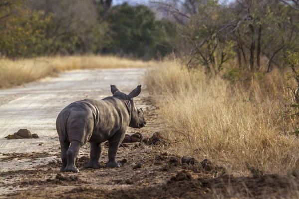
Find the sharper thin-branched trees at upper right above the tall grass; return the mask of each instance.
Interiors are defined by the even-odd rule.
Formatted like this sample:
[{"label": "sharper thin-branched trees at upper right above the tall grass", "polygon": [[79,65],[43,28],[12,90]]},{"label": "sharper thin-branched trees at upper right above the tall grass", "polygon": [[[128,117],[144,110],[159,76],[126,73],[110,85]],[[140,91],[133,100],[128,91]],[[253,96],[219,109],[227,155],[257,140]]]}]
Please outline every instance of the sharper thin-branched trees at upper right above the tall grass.
[{"label": "sharper thin-branched trees at upper right above the tall grass", "polygon": [[[282,3],[284,1],[284,3]],[[292,2],[291,2],[292,1]],[[298,0],[219,0],[153,1],[163,13],[180,24],[182,35],[177,49],[188,51],[187,66],[205,66],[217,74],[223,63],[237,57],[239,67],[252,72],[261,69],[261,56],[281,67],[279,58],[286,50],[298,48]],[[187,50],[186,50],[187,49]]]}]

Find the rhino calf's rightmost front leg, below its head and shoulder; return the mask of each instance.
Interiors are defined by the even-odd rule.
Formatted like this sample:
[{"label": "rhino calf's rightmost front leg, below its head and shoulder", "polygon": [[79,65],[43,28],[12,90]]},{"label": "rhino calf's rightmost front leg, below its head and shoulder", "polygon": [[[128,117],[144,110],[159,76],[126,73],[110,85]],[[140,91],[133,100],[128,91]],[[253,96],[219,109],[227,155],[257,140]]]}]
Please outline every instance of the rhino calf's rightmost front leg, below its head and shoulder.
[{"label": "rhino calf's rightmost front leg, below its head and shoulder", "polygon": [[125,132],[116,132],[112,138],[108,140],[109,142],[109,149],[108,149],[108,163],[106,167],[108,168],[114,168],[114,167],[120,167],[120,165],[116,162],[115,156],[118,147],[122,143],[123,139],[125,138]]}]

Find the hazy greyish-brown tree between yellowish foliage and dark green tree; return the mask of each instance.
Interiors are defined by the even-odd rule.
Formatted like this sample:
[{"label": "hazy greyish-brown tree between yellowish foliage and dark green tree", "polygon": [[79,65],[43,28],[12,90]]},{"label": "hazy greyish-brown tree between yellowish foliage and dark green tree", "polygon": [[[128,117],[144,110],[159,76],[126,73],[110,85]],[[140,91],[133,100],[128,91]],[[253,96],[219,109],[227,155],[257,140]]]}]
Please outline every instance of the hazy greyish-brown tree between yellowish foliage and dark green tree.
[{"label": "hazy greyish-brown tree between yellowish foliage and dark green tree", "polygon": [[105,24],[98,23],[93,0],[32,0],[29,5],[55,16],[46,27],[52,54],[93,52],[101,45]]}]

